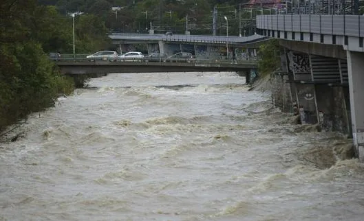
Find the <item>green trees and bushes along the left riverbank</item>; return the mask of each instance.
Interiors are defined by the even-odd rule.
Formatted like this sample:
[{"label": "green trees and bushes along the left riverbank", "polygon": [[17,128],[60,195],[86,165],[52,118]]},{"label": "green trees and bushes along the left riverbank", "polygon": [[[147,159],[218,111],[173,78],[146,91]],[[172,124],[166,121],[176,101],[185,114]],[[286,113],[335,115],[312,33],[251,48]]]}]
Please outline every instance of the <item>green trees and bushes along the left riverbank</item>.
[{"label": "green trees and bushes along the left riverbank", "polygon": [[[6,126],[54,105],[59,95],[74,90],[74,81],[61,75],[48,56],[54,51],[72,53],[69,18],[36,0],[1,1],[0,134]],[[105,25],[96,16],[80,19],[77,31],[78,53],[109,44]]]}]

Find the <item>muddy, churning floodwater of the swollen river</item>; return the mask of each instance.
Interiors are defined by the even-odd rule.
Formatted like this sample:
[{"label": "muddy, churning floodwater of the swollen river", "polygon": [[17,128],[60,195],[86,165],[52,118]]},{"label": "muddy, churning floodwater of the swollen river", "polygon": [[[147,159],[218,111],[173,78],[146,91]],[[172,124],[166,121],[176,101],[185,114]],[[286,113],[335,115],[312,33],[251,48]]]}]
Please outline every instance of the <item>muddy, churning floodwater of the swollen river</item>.
[{"label": "muddy, churning floodwater of the swollen river", "polygon": [[0,220],[364,220],[351,143],[235,73],[114,73],[0,144]]}]

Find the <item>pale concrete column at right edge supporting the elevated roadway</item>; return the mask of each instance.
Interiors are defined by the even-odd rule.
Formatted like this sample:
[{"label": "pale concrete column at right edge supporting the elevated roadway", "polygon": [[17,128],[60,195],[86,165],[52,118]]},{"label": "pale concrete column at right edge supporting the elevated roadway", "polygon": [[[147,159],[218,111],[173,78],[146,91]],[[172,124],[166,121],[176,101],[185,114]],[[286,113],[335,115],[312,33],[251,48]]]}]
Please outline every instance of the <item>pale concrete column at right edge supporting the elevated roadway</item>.
[{"label": "pale concrete column at right edge supporting the elevated roadway", "polygon": [[347,51],[347,72],[354,147],[364,162],[364,53]]}]

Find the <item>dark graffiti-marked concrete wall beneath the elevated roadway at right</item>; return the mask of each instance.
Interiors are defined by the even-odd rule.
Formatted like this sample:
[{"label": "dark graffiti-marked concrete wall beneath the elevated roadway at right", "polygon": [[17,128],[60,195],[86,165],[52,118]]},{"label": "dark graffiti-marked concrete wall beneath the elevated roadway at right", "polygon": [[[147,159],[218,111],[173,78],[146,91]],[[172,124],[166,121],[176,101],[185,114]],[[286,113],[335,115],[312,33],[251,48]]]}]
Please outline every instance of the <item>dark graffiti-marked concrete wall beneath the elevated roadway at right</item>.
[{"label": "dark graffiti-marked concrete wall beneath the elevated roadway at right", "polygon": [[[321,79],[310,55],[283,48],[281,72],[272,75],[272,100],[283,111],[299,116],[301,124],[317,124],[319,130],[338,131],[351,136],[350,96],[345,82]],[[330,60],[332,58],[328,58]],[[335,58],[336,59],[336,58]],[[323,62],[328,65],[327,62]],[[338,66],[340,68],[340,66]],[[345,70],[333,70],[331,76]],[[326,74],[326,73],[325,73]],[[314,78],[316,77],[316,78]]]}]

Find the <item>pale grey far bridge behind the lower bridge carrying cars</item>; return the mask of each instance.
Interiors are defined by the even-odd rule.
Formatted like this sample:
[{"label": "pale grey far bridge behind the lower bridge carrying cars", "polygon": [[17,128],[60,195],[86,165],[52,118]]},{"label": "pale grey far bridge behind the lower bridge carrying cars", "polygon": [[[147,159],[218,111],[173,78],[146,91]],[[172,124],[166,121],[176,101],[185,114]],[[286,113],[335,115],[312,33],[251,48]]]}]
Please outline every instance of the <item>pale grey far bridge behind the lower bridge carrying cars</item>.
[{"label": "pale grey far bridge behind the lower bridge carrying cars", "polygon": [[243,59],[244,55],[256,56],[259,45],[268,40],[266,36],[204,36],[165,34],[109,34],[112,43],[118,45],[119,53],[135,51],[136,45],[147,47],[147,53],[160,52],[169,56],[177,52],[190,52],[196,58],[215,60],[222,57]]}]

